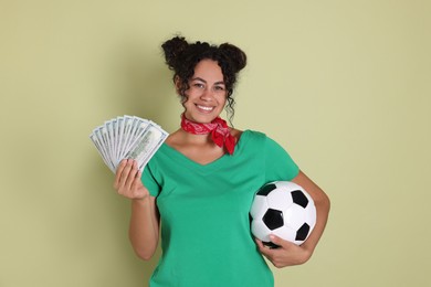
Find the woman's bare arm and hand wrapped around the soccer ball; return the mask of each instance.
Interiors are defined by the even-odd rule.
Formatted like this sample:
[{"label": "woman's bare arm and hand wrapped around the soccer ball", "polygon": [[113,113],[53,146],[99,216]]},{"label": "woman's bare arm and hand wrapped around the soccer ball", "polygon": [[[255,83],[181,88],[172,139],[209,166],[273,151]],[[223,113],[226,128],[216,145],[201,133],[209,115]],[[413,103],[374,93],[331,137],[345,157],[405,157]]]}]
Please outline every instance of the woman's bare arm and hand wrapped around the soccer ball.
[{"label": "woman's bare arm and hand wrapped around the soccer ball", "polygon": [[272,236],[271,241],[281,247],[276,249],[269,249],[262,245],[262,242],[256,240],[260,252],[278,268],[303,264],[311,258],[325,230],[329,214],[329,198],[319,187],[317,187],[316,183],[305,176],[305,173],[299,171],[292,182],[303,187],[313,198],[314,204],[316,205],[317,219],[312,234],[301,246],[283,241],[277,236]]}]

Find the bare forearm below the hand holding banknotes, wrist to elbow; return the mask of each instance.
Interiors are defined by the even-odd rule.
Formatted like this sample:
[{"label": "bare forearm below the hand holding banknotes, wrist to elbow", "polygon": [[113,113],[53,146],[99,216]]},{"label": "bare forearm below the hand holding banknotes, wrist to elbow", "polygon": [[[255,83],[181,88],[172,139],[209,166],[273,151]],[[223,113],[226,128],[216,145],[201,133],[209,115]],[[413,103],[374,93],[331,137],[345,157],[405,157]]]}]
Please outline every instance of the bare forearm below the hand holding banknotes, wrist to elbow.
[{"label": "bare forearm below the hand holding banknotes, wrist to elbow", "polygon": [[159,238],[159,215],[155,198],[132,200],[129,238],[136,254],[148,261],[154,255]]}]

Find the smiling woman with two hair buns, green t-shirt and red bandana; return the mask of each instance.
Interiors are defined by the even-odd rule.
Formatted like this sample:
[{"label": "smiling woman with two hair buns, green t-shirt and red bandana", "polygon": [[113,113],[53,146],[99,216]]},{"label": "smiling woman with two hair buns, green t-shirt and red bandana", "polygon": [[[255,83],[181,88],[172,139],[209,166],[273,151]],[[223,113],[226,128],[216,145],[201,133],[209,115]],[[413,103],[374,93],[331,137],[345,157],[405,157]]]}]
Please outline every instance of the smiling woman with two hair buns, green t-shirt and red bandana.
[{"label": "smiling woman with two hair buns, green t-shirt and red bandana", "polygon": [[[246,56],[231,44],[162,44],[181,104],[181,128],[172,132],[144,173],[124,160],[114,187],[132,200],[129,237],[137,255],[154,255],[161,230],[162,255],[150,286],[273,286],[264,255],[274,266],[309,259],[325,228],[326,194],[288,153],[264,134],[228,127],[219,115],[233,114],[233,86]],[[249,211],[264,183],[288,180],[315,201],[317,222],[301,246],[273,237],[270,249],[250,233]],[[162,224],[160,224],[162,223]]]}]

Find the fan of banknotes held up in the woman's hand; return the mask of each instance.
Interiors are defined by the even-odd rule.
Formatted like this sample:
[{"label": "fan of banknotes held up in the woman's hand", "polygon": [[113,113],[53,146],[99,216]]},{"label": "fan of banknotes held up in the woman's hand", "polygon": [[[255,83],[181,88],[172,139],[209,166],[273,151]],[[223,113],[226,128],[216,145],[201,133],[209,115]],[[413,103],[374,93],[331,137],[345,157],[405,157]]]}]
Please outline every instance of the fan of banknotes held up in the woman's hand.
[{"label": "fan of banknotes held up in the woman's hand", "polygon": [[106,120],[90,135],[114,173],[123,159],[137,160],[143,171],[167,137],[168,132],[154,121],[127,115]]}]

